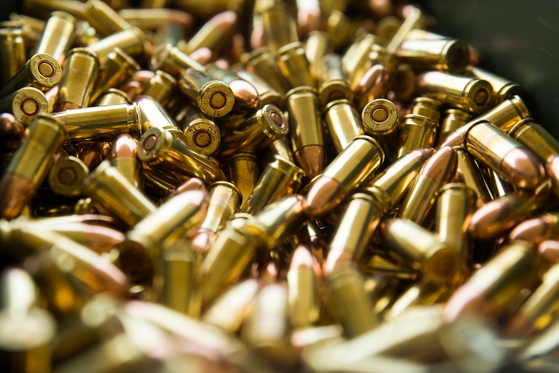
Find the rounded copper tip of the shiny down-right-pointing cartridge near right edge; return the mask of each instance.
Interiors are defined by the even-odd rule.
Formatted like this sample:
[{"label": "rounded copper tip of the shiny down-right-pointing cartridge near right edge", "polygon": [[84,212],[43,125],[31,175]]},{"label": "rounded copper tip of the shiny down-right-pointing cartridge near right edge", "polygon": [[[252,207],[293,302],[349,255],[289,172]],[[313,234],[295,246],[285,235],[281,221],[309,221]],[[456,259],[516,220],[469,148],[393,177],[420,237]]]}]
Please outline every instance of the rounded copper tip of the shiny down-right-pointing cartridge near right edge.
[{"label": "rounded copper tip of the shiny down-right-pointing cartridge near right edge", "polygon": [[503,158],[501,170],[507,179],[521,188],[535,188],[545,176],[543,165],[529,150],[515,148]]}]

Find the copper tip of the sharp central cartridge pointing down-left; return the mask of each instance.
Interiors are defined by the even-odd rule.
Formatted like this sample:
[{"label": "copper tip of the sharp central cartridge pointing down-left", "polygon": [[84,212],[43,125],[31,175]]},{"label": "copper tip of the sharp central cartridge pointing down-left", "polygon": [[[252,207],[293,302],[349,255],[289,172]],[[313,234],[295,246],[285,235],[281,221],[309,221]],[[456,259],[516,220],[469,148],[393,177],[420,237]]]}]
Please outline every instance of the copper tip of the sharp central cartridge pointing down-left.
[{"label": "copper tip of the sharp central cartridge pointing down-left", "polygon": [[345,196],[342,184],[333,178],[321,176],[312,183],[307,192],[305,213],[312,217],[328,213],[338,206]]}]

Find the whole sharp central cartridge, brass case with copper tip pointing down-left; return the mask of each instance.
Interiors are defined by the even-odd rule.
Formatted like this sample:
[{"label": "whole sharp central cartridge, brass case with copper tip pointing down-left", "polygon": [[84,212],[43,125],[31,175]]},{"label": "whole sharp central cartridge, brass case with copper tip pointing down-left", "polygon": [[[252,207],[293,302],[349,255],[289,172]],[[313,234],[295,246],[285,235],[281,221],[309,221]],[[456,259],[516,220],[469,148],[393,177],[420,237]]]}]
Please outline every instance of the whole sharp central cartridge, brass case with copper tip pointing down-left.
[{"label": "whole sharp central cartridge, brass case with copper tip pointing down-left", "polygon": [[353,188],[358,187],[384,161],[384,152],[370,136],[357,136],[315,178],[306,195],[306,213],[318,216],[339,205]]}]

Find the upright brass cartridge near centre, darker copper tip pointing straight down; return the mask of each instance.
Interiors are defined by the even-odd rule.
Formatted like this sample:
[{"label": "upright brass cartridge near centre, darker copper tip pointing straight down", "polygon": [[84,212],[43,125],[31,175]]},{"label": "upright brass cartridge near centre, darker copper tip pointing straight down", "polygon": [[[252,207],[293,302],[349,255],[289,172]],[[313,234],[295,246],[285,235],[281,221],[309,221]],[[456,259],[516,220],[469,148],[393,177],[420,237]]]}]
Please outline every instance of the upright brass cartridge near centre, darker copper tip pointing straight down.
[{"label": "upright brass cartridge near centre, darker copper tip pointing straight down", "polygon": [[291,144],[295,160],[309,179],[324,170],[326,152],[316,89],[297,87],[287,95]]}]

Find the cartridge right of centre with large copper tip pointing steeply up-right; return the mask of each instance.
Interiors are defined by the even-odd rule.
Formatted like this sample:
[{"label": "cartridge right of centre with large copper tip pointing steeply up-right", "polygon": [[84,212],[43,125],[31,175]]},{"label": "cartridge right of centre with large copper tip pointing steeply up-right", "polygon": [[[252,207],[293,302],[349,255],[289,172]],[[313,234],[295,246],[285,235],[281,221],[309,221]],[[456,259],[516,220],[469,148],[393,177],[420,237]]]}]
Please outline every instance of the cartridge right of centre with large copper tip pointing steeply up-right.
[{"label": "cartridge right of centre with large copper tip pointing steeply up-right", "polygon": [[399,218],[429,225],[429,213],[439,195],[440,187],[456,178],[457,158],[453,148],[445,147],[425,162],[402,202]]}]

